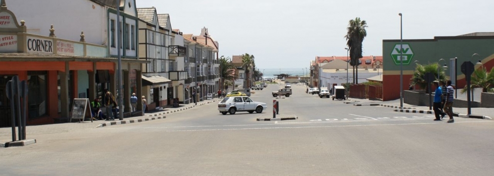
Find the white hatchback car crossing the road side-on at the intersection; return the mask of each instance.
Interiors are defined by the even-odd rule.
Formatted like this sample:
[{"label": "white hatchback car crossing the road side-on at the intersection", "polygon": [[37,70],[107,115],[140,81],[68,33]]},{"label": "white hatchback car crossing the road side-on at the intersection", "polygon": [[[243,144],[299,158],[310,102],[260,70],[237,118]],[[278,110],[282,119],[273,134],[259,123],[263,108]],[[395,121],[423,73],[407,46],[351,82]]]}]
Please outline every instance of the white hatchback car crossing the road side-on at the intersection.
[{"label": "white hatchback car crossing the road side-on at the intersection", "polygon": [[248,113],[262,113],[267,109],[267,105],[261,102],[254,102],[247,96],[226,97],[218,103],[218,110],[223,115],[227,113],[235,114],[237,111],[247,111]]}]

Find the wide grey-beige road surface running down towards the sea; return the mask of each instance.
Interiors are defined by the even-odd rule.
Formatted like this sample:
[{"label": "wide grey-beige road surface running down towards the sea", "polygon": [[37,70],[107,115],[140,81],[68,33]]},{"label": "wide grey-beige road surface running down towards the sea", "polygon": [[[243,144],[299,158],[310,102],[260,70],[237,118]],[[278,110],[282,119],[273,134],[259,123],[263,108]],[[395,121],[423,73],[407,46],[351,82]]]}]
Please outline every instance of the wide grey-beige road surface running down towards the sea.
[{"label": "wide grey-beige road surface running down towards the sea", "polygon": [[38,143],[0,149],[0,175],[167,176],[491,176],[492,120],[393,112],[306,94],[276,99],[255,90],[263,113],[222,115],[217,103],[164,120],[35,136]]}]

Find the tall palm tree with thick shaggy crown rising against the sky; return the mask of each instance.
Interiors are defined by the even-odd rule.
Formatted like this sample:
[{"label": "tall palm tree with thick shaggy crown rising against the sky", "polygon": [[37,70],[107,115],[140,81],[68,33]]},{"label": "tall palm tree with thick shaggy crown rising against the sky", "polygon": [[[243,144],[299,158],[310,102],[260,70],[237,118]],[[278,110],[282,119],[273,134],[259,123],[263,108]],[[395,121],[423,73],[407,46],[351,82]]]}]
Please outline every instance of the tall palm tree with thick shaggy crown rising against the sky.
[{"label": "tall palm tree with thick shaggy crown rising against the sky", "polygon": [[[346,45],[350,52],[350,65],[353,67],[353,83],[358,84],[358,60],[362,58],[362,42],[367,36],[367,22],[360,20],[360,17],[348,21],[347,33],[345,35]],[[355,72],[355,68],[357,68]],[[357,74],[357,75],[355,75]]]}]

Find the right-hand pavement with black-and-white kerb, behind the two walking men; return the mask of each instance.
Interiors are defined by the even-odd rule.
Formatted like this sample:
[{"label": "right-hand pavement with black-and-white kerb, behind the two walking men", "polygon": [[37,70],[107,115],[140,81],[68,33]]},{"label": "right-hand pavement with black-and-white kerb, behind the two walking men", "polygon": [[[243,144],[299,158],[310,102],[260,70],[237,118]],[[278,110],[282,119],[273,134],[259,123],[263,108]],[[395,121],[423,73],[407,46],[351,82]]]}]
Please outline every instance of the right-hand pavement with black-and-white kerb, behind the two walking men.
[{"label": "right-hand pavement with black-and-white kerb, behind the two walking men", "polygon": [[[458,97],[460,97],[460,93],[458,94]],[[368,100],[368,99],[357,99],[357,98],[349,98],[348,100],[345,100],[344,103],[347,104],[354,104],[355,106],[362,106],[362,105],[374,105],[374,106],[383,106],[389,108],[391,111],[394,110],[399,110],[400,108],[400,99],[397,100],[392,100],[392,101],[373,101],[373,100]],[[453,103],[454,104],[454,103]],[[403,112],[408,113],[426,113],[426,114],[434,114],[434,111],[429,109],[429,106],[417,106],[417,105],[410,105],[403,103]],[[414,112],[412,112],[415,110]],[[478,117],[493,117],[494,115],[494,108],[471,108],[472,114],[470,116],[478,116]],[[467,117],[468,113],[468,108],[453,108],[453,113],[458,113],[459,117]]]}]

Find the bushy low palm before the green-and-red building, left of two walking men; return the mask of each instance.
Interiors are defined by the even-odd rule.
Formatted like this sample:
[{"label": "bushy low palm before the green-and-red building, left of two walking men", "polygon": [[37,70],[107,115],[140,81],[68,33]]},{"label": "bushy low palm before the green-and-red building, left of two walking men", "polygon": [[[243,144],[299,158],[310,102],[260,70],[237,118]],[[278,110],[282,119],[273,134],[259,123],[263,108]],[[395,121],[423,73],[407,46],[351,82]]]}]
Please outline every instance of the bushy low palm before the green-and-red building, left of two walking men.
[{"label": "bushy low palm before the green-and-red building, left of two walking men", "polygon": [[[426,90],[426,93],[429,93],[429,84],[427,84],[427,81],[424,79],[424,76],[426,73],[434,73],[434,77],[437,79],[438,77],[438,63],[432,63],[429,65],[421,65],[417,64],[417,67],[415,69],[415,72],[412,75],[412,78],[410,79],[410,85],[414,86],[416,84],[419,85],[419,87],[424,88]],[[446,73],[444,72],[443,67],[439,67],[439,81],[443,82],[446,81]]]}]

